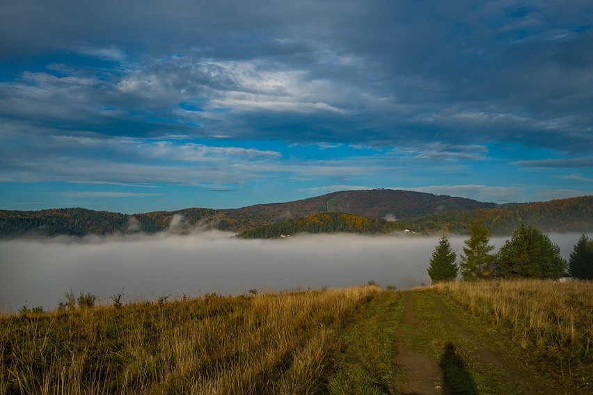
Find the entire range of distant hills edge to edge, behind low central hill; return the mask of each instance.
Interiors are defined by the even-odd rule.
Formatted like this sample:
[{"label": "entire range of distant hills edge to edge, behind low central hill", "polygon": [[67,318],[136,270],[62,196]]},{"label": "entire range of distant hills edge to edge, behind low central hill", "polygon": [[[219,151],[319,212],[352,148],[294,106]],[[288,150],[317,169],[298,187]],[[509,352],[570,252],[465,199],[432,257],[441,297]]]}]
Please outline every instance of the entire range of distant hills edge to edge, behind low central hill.
[{"label": "entire range of distant hills edge to edge, behind low central hill", "polygon": [[133,215],[80,208],[0,210],[0,238],[164,231],[185,233],[196,228],[241,233],[264,225],[308,218],[317,213],[347,213],[365,217],[371,222],[377,219],[395,220],[395,225],[388,226],[424,233],[444,230],[464,234],[473,218],[482,218],[494,234],[509,234],[521,223],[537,226],[546,232],[593,231],[593,196],[500,206],[447,195],[374,189],[342,191],[293,202],[226,210],[191,208]]}]

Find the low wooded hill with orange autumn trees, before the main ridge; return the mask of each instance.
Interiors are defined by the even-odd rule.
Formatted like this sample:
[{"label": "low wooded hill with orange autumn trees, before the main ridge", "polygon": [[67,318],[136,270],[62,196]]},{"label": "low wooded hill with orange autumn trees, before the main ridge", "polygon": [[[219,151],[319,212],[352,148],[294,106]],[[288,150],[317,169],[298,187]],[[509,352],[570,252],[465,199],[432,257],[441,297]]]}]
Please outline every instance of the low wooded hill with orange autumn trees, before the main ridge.
[{"label": "low wooded hill with orange autumn trees, before the main ridge", "polygon": [[347,213],[316,213],[296,220],[264,225],[249,229],[239,237],[245,239],[276,239],[297,233],[386,233],[393,230],[393,223],[381,218],[365,218]]}]

